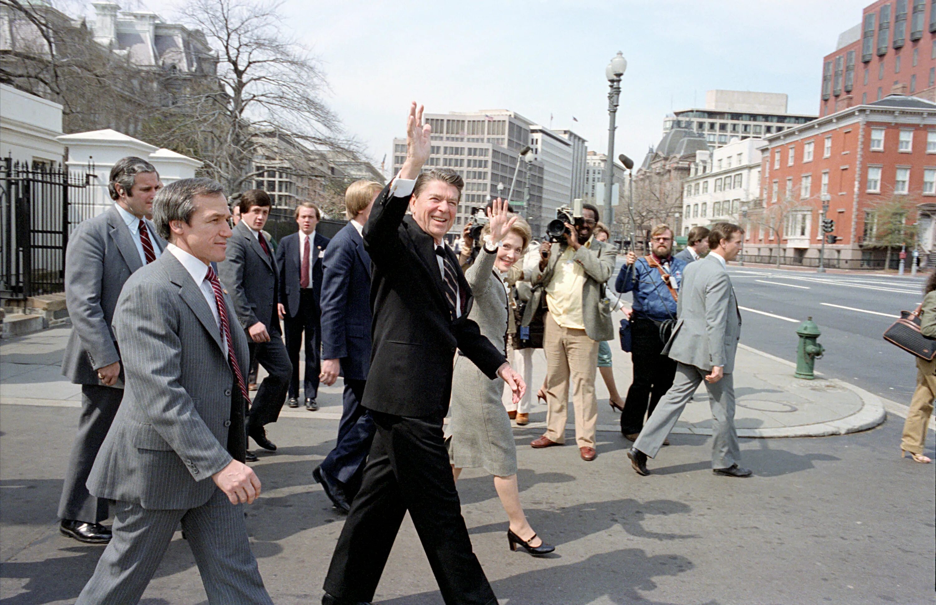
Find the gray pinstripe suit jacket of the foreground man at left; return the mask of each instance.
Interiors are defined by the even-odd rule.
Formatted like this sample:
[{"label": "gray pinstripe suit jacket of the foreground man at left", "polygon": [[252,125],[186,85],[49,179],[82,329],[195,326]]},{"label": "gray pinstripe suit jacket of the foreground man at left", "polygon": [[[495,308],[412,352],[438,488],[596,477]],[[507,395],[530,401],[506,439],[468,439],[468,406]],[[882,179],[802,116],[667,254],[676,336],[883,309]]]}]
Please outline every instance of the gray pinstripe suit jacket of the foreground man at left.
[{"label": "gray pinstripe suit jacket of the foreground man at left", "polygon": [[[247,338],[230,313],[231,346],[246,372]],[[217,489],[228,432],[242,457],[243,406],[212,309],[171,253],[127,280],[114,312],[124,400],[97,453],[88,490],[144,509],[194,509]],[[237,395],[238,401],[242,398]]]}]

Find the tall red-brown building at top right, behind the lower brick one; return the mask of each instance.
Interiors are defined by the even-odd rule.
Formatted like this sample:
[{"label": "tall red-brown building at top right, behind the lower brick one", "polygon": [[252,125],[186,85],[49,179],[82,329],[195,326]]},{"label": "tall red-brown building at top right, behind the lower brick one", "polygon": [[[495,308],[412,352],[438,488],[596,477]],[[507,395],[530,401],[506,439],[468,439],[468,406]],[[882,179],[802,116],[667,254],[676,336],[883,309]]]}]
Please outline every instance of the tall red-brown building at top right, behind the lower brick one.
[{"label": "tall red-brown building at top right, behind the lower brick one", "polygon": [[823,59],[819,115],[891,93],[936,101],[936,2],[878,0]]}]

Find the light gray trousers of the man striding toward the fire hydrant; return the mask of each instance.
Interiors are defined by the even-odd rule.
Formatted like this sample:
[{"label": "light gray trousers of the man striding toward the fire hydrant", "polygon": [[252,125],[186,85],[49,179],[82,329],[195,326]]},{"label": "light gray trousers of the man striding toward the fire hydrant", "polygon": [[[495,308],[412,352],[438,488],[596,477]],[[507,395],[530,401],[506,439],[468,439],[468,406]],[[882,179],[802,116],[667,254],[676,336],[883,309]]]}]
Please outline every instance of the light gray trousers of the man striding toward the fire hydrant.
[{"label": "light gray trousers of the man striding toward the fire hydrant", "polygon": [[[680,414],[693,393],[698,389],[699,383],[704,382],[710,370],[703,370],[678,362],[676,364],[676,378],[673,386],[656,405],[650,420],[644,425],[640,436],[637,437],[634,447],[650,456],[656,457],[656,452],[663,446],[663,441],[669,432],[680,420]],[[734,376],[725,374],[721,380],[712,384],[705,383],[709,391],[709,406],[711,406],[711,467],[727,468],[737,465],[741,460],[738,446],[738,431],[735,429],[735,380]]]}]

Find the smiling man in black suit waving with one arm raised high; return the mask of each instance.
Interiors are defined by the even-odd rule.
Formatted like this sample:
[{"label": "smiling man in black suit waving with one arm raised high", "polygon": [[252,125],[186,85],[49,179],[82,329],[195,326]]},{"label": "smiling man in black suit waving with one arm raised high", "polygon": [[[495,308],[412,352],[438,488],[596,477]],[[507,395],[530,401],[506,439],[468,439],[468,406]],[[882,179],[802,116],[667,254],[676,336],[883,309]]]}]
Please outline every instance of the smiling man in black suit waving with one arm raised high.
[{"label": "smiling man in black suit waving with one arm raised high", "polygon": [[[419,171],[431,150],[422,108],[410,108],[406,161],[373,204],[364,243],[373,260],[373,353],[362,405],[376,432],[360,491],[331,559],[323,605],[369,601],[408,510],[447,604],[497,603],[472,552],[443,440],[455,349],[514,401],[526,385],[477,324],[455,253],[461,177]],[[405,216],[407,208],[411,216]]]}]

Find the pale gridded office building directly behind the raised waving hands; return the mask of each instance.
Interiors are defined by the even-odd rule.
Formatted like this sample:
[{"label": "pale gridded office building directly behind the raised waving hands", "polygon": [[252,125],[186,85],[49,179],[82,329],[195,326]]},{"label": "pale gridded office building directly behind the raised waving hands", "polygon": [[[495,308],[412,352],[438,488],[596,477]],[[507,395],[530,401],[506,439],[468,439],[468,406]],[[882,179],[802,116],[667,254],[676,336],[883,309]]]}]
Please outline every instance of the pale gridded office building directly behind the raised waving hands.
[{"label": "pale gridded office building directly behind the raised waving hands", "polygon": [[[423,170],[455,170],[465,181],[461,204],[450,235],[461,233],[475,208],[483,208],[490,198],[506,198],[524,216],[534,234],[543,232],[544,164],[529,155],[519,157],[530,144],[533,122],[515,111],[452,111],[426,113],[424,120],[432,128],[429,161]],[[399,171],[406,159],[406,140],[393,140],[393,170]],[[518,167],[519,162],[519,167]],[[517,181],[513,193],[510,185]]]}]

